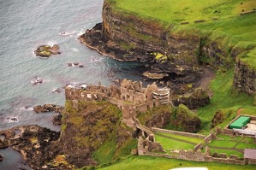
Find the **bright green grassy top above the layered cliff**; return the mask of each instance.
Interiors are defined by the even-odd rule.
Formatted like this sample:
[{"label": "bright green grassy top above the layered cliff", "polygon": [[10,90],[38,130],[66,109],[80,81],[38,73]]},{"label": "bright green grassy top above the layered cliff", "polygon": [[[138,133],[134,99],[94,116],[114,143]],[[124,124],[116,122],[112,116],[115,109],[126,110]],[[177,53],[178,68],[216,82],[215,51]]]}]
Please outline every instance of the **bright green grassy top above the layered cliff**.
[{"label": "bright green grassy top above the layered cliff", "polygon": [[[175,24],[172,32],[186,30],[201,32],[212,40],[218,40],[223,46],[245,50],[252,50],[256,47],[255,0],[107,1],[116,11],[125,11],[128,14],[140,16],[140,18],[160,21],[159,23],[164,23],[166,28]],[[243,59],[243,57],[241,60],[256,68],[256,55],[250,53],[248,56],[250,56],[249,60],[248,58]]]}]

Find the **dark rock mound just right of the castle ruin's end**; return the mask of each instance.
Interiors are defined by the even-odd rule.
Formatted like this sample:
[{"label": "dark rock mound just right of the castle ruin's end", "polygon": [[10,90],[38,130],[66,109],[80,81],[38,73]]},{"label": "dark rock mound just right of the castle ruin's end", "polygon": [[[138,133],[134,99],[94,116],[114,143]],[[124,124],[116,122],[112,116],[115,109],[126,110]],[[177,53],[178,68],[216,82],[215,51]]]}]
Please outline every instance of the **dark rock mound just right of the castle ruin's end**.
[{"label": "dark rock mound just right of the castle ruin's end", "polygon": [[210,103],[210,97],[206,91],[201,88],[193,90],[192,93],[176,96],[172,99],[172,103],[175,106],[180,104],[186,105],[189,109],[196,109],[203,107]]}]

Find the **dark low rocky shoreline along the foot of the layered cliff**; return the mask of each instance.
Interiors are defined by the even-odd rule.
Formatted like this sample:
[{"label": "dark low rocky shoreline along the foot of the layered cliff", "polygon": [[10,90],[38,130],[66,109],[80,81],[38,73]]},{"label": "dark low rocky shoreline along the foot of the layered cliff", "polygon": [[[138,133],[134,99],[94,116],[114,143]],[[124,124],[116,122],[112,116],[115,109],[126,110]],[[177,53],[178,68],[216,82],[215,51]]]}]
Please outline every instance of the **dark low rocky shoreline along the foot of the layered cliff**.
[{"label": "dark low rocky shoreline along the foot of the layered cliff", "polygon": [[[209,72],[214,72],[211,67],[199,66],[196,62],[157,60],[156,56],[147,50],[136,48],[125,50],[122,46],[118,45],[118,42],[114,43],[114,40],[105,36],[103,30],[103,24],[98,23],[91,30],[87,30],[86,33],[80,36],[80,43],[85,44],[92,50],[98,51],[101,55],[109,56],[120,62],[135,61],[148,63],[146,64],[148,69],[142,75],[146,79],[153,79],[158,81],[158,83],[161,82],[162,85],[170,87],[174,95],[193,91],[204,81],[203,77],[207,76]],[[187,88],[186,86],[191,87]]]}]

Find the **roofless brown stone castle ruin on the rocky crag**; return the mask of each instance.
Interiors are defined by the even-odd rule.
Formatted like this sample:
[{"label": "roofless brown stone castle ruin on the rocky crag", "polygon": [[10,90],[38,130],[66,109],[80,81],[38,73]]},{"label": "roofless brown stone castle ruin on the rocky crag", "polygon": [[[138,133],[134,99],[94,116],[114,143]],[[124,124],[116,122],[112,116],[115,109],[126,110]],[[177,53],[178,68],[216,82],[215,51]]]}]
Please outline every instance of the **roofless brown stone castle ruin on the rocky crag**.
[{"label": "roofless brown stone castle ruin on the rocky crag", "polygon": [[142,82],[123,79],[120,87],[110,85],[67,85],[65,89],[67,100],[73,101],[109,101],[122,110],[124,120],[136,117],[136,111],[145,112],[147,109],[170,103],[170,91],[159,89],[154,82],[143,87]]}]

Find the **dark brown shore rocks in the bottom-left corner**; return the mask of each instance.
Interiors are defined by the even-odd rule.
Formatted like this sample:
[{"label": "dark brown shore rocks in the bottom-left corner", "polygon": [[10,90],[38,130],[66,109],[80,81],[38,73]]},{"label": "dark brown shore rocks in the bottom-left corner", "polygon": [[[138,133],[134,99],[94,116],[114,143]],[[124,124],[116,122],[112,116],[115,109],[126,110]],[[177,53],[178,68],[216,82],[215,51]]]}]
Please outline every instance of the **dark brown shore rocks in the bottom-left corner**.
[{"label": "dark brown shore rocks in the bottom-left corner", "polygon": [[[16,134],[16,131],[21,131]],[[51,148],[53,142],[57,142],[60,132],[40,126],[17,126],[9,130],[0,131],[5,138],[0,140],[0,145],[7,144],[19,152],[33,169],[42,169],[45,163],[51,161],[56,155]],[[48,167],[51,167],[48,165]]]}]

